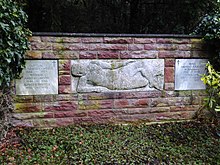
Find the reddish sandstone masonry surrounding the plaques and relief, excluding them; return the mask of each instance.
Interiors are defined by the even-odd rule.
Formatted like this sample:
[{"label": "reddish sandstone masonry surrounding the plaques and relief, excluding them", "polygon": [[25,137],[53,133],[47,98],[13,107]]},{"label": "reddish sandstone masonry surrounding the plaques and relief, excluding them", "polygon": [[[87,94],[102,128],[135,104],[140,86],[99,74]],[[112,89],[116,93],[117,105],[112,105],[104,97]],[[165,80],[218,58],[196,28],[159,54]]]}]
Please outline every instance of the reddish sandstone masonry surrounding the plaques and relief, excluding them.
[{"label": "reddish sandstone masonry surrounding the plaques and relief, excluding them", "polygon": [[[17,126],[56,127],[75,123],[159,122],[192,118],[205,91],[175,91],[175,59],[205,58],[199,38],[33,36],[26,59],[58,60],[58,94],[15,97]],[[73,93],[73,60],[163,59],[162,90]]]}]

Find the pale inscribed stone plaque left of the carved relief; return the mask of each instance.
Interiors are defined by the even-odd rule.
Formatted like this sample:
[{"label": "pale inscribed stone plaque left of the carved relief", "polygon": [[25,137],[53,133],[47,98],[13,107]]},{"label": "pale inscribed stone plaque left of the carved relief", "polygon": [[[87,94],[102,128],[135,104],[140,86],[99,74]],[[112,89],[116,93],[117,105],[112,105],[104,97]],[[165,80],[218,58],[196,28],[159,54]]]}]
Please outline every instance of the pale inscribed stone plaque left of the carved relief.
[{"label": "pale inscribed stone plaque left of the carved relief", "polygon": [[21,79],[16,80],[16,94],[58,94],[57,60],[26,60]]}]

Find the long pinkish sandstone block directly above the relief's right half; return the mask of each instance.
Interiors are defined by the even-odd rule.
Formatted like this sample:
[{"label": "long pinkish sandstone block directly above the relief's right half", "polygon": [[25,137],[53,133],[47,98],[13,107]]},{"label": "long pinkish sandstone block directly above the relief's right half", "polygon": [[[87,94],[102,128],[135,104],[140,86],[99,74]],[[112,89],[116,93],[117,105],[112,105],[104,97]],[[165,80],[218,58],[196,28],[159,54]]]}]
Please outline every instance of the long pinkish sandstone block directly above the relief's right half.
[{"label": "long pinkish sandstone block directly above the relief's right half", "polygon": [[153,59],[157,58],[157,51],[121,51],[120,58],[121,59],[129,59],[129,58],[146,58]]}]

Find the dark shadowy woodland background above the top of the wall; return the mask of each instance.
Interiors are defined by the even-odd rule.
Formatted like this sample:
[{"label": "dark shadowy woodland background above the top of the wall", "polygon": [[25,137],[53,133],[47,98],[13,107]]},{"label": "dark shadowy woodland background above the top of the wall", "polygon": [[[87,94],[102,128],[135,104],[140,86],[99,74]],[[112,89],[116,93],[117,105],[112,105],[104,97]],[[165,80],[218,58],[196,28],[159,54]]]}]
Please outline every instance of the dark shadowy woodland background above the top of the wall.
[{"label": "dark shadowy woodland background above the top of the wall", "polygon": [[31,0],[29,27],[40,32],[189,34],[217,0]]}]

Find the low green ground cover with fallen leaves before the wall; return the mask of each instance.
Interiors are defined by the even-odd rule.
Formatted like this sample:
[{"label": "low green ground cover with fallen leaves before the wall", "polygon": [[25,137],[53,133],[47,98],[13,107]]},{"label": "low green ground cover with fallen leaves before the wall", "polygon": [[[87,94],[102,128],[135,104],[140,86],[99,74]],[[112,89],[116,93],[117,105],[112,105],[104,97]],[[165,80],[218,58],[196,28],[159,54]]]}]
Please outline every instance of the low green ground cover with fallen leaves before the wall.
[{"label": "low green ground cover with fallen leaves before the wall", "polygon": [[214,130],[200,122],[14,129],[0,164],[214,165],[220,164]]}]

